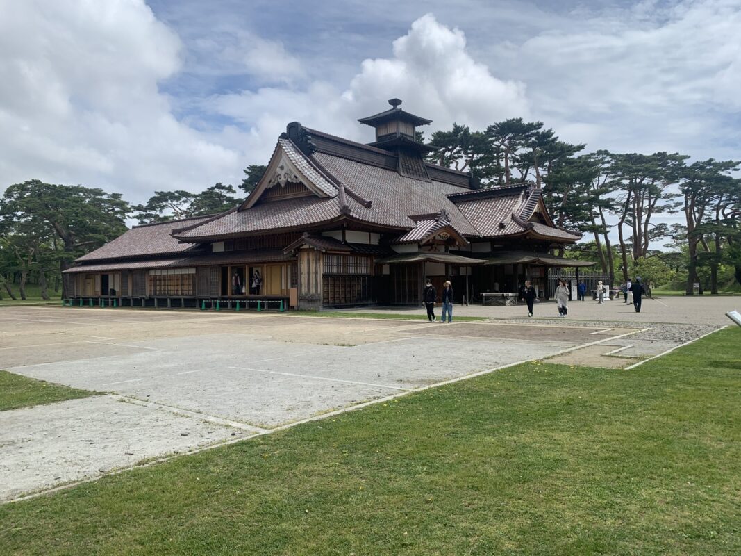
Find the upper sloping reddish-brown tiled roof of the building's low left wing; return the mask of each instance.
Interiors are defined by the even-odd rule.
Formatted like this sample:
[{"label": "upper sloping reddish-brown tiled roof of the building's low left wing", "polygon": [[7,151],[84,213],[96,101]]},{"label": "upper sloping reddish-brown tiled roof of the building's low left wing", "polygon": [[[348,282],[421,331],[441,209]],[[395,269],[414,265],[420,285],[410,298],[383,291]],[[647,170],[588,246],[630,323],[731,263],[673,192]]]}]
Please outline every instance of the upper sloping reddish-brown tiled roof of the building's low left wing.
[{"label": "upper sloping reddish-brown tiled roof of the building's low left wing", "polygon": [[167,220],[167,222],[135,226],[116,239],[113,239],[113,241],[79,257],[77,260],[83,262],[182,253],[183,251],[197,247],[197,245],[193,243],[180,243],[170,235],[171,232],[174,229],[197,225],[207,222],[210,219],[213,219],[213,215]]}]

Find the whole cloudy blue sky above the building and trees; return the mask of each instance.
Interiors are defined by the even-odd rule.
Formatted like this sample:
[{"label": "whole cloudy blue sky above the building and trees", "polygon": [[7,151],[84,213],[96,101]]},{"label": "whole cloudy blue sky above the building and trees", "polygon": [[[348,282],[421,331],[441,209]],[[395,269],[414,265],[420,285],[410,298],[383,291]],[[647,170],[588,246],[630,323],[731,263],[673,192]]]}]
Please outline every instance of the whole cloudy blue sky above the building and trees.
[{"label": "whole cloudy blue sky above the building and trees", "polygon": [[[285,125],[370,141],[398,96],[588,150],[741,158],[741,1],[0,0],[0,175],[236,183]],[[33,40],[29,40],[33,38]]]}]

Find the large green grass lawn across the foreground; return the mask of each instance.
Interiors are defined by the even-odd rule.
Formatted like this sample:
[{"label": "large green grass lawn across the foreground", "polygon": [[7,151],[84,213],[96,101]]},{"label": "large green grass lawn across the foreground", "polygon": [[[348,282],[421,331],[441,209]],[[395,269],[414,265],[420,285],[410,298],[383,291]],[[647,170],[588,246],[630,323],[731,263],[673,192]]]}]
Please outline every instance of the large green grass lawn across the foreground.
[{"label": "large green grass lawn across the foreground", "polygon": [[741,329],[530,363],[0,506],[3,555],[738,555]]}]

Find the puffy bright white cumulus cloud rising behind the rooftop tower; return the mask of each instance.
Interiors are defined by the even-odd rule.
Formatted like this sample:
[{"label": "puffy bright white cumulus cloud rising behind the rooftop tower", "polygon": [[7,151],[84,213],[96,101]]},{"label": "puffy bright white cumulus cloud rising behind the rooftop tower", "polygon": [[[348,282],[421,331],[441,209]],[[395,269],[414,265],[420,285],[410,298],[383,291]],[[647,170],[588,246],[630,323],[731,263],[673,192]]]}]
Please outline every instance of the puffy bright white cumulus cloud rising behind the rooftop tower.
[{"label": "puffy bright white cumulus cloud rising behind the rooftop tower", "polygon": [[262,87],[214,95],[204,108],[229,116],[249,128],[245,149],[250,156],[269,156],[276,137],[293,120],[362,142],[371,141],[369,128],[356,119],[388,108],[386,99],[399,97],[403,107],[434,119],[433,129],[453,122],[483,128],[499,119],[529,114],[525,86],[502,81],[473,60],[465,35],[436,21],[431,14],[411,25],[393,42],[391,58],[366,59],[344,91],[315,81],[301,89]]}]

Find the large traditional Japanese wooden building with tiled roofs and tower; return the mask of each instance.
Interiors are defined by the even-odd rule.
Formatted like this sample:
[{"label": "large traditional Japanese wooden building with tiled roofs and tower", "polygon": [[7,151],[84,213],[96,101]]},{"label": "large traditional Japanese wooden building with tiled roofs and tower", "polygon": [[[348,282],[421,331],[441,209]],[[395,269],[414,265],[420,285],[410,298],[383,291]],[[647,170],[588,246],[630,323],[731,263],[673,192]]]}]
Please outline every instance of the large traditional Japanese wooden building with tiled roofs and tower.
[{"label": "large traditional Japanese wooden building with tiled roofs and tower", "polygon": [[389,103],[359,120],[375,128],[368,145],[290,123],[242,205],[136,226],[77,259],[67,291],[167,307],[419,305],[425,277],[451,279],[459,300],[525,279],[545,297],[549,267],[591,264],[551,254],[580,235],[554,225],[538,188],[472,189],[425,162],[415,132],[431,121]]}]

